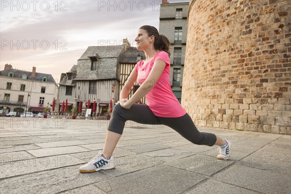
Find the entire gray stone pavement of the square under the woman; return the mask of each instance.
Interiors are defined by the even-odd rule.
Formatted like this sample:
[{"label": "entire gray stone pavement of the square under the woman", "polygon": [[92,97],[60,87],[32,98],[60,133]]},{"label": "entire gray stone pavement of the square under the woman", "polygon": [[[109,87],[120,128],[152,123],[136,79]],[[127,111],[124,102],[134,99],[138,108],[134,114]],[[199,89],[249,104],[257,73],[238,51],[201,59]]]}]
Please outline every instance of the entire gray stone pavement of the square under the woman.
[{"label": "entire gray stone pavement of the square under the woman", "polygon": [[[107,121],[0,118],[1,194],[290,194],[291,136],[199,128],[232,142],[194,145],[166,126],[128,122],[113,170],[79,173]],[[181,123],[182,124],[182,123]]]}]

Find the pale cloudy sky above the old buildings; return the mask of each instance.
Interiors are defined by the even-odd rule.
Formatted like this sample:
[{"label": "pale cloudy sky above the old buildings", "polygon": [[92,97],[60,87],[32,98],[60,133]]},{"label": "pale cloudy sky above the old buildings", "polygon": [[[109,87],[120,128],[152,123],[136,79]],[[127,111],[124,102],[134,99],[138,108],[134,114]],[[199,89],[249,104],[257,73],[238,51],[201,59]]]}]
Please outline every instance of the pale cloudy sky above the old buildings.
[{"label": "pale cloudy sky above the old buildings", "polygon": [[[174,2],[189,0],[169,0]],[[159,30],[162,0],[0,0],[0,70],[52,74],[59,82],[88,46],[120,45],[142,25]]]}]

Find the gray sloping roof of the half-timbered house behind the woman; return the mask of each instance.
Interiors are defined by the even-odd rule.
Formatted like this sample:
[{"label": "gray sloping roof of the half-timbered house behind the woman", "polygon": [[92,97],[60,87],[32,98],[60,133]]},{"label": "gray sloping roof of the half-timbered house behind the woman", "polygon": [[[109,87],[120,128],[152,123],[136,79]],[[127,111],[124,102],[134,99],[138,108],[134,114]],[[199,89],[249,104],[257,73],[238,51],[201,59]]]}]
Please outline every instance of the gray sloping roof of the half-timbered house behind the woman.
[{"label": "gray sloping roof of the half-timbered house behind the woman", "polygon": [[79,60],[89,59],[89,56],[97,56],[98,58],[118,57],[124,46],[125,44],[116,46],[89,46]]}]

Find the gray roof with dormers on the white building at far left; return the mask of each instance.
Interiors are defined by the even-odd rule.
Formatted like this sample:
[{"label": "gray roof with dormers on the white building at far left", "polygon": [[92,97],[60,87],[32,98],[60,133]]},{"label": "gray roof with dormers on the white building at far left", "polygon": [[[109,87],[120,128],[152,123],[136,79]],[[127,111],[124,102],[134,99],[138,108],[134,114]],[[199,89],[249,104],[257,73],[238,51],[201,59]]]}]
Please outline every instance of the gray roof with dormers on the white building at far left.
[{"label": "gray roof with dormers on the white building at far left", "polygon": [[27,75],[27,79],[28,80],[36,80],[36,81],[42,81],[43,77],[47,77],[47,82],[52,82],[54,84],[57,84],[54,80],[54,78],[52,77],[51,74],[46,74],[46,73],[35,73],[35,77],[32,78],[32,72],[30,71],[23,71],[23,70],[16,70],[16,69],[6,69],[6,70],[2,70],[0,71],[0,75],[4,76],[4,77],[8,77],[8,73],[14,73],[13,77],[14,78],[19,78],[22,79],[22,75],[26,74]]}]

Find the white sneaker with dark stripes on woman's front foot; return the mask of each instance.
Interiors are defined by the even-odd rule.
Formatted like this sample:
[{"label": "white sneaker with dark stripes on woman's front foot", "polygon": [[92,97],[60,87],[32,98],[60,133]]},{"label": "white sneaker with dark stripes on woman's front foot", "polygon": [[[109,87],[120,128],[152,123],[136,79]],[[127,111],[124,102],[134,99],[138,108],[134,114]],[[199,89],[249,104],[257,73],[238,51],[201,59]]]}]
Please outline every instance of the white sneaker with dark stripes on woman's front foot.
[{"label": "white sneaker with dark stripes on woman's front foot", "polygon": [[110,170],[115,168],[115,162],[113,156],[110,159],[106,159],[102,152],[99,151],[99,154],[91,159],[87,164],[82,165],[79,168],[79,172],[81,173],[94,173],[99,170]]}]

